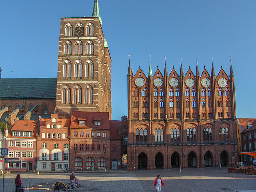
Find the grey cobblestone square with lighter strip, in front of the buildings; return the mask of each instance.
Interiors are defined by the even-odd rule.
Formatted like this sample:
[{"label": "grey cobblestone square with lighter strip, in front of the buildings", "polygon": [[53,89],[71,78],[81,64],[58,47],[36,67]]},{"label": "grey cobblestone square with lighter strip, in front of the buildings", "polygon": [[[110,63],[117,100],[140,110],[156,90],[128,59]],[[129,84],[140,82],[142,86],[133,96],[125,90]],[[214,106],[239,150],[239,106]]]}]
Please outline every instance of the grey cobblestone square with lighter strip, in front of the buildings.
[{"label": "grey cobblestone square with lighter strip, in front of the buildings", "polygon": [[[17,173],[5,176],[4,192],[15,190],[14,178]],[[153,182],[160,174],[165,186],[161,192],[235,192],[235,190],[256,190],[256,176],[228,173],[226,168],[188,168],[170,170],[109,170],[107,172],[76,172],[82,186],[82,192],[156,192]],[[69,182],[70,173],[36,172],[20,173],[22,186],[30,192],[53,192],[53,184],[57,181]],[[3,180],[0,177],[0,192]],[[48,188],[50,190],[44,190]],[[41,189],[41,190],[39,190]],[[28,190],[25,190],[28,192]]]}]

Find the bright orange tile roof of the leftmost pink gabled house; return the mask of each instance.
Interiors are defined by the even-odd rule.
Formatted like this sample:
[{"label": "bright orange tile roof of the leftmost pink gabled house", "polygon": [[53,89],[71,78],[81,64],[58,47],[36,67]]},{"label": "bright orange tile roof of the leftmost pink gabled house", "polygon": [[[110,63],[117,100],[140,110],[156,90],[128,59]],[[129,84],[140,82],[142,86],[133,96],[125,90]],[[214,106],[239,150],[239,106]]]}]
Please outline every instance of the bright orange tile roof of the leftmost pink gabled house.
[{"label": "bright orange tile roof of the leftmost pink gabled house", "polygon": [[[34,137],[36,135],[37,127],[38,127],[38,121],[18,120],[17,122],[14,122],[14,125],[9,131],[8,137],[12,137],[12,131],[32,131],[33,132],[32,136]],[[24,137],[19,137],[19,138],[24,138]]]}]

